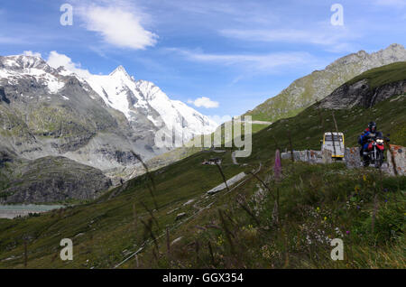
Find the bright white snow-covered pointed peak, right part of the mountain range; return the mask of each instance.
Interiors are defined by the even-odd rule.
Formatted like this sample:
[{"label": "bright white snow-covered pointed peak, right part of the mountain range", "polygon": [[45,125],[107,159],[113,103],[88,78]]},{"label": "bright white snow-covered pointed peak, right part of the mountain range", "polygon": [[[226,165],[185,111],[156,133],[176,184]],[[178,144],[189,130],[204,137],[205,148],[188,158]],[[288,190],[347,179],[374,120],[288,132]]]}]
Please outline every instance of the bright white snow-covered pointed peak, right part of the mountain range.
[{"label": "bright white snow-covered pointed peak, right part of the mountain range", "polygon": [[167,127],[184,141],[194,134],[210,134],[217,124],[180,101],[171,100],[161,88],[146,80],[130,77],[123,66],[106,76],[92,75],[86,79],[107,106],[121,111],[130,123],[140,114],[157,127]]}]

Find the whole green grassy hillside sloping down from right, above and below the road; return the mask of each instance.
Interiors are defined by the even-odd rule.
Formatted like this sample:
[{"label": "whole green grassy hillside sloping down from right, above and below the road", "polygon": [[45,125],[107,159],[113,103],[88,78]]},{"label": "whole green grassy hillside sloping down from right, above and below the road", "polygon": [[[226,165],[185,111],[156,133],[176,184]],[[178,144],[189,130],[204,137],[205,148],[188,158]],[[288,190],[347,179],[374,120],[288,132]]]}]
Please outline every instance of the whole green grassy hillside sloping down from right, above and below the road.
[{"label": "whole green grassy hillside sloping down from right, above and below the road", "polygon": [[[385,134],[392,134],[392,144],[406,145],[405,98],[391,97],[372,109],[335,111],[346,145],[355,145],[357,134],[373,119]],[[283,180],[273,182],[274,151],[289,147],[288,131],[293,148],[300,150],[318,149],[323,132],[334,129],[331,110],[316,106],[254,134],[251,156],[237,159],[244,164],[232,163],[230,149],[200,152],[99,199],[39,217],[0,219],[0,267],[23,267],[26,240],[32,268],[111,268],[141,246],[138,265],[133,257],[120,267],[404,268],[405,177],[381,180],[374,170],[363,177],[364,171],[347,171],[339,163],[282,162]],[[229,193],[207,196],[207,190],[223,181],[217,166],[201,165],[210,157],[223,158],[226,179],[259,169],[257,177],[270,190],[250,175]],[[271,220],[271,194],[276,190],[281,207],[277,226]],[[176,220],[183,212],[185,217]],[[181,237],[171,245],[170,255],[166,227],[170,241]],[[331,261],[331,247],[320,236],[343,238],[346,260]],[[73,240],[71,262],[60,260],[62,238]]]}]

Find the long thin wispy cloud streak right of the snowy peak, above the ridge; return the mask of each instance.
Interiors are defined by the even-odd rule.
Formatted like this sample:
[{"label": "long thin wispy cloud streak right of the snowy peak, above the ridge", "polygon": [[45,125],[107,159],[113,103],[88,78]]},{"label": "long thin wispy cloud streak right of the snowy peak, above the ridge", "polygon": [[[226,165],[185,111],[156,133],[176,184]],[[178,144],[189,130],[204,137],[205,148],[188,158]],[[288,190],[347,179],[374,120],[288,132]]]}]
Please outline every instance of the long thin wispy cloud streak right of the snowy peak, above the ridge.
[{"label": "long thin wispy cloud streak right of the snowy peak, above the ridge", "polygon": [[200,51],[185,51],[177,48],[176,51],[189,60],[199,62],[212,62],[224,65],[244,65],[250,69],[272,69],[281,66],[309,63],[313,60],[308,52],[275,52],[270,54],[208,54]]}]

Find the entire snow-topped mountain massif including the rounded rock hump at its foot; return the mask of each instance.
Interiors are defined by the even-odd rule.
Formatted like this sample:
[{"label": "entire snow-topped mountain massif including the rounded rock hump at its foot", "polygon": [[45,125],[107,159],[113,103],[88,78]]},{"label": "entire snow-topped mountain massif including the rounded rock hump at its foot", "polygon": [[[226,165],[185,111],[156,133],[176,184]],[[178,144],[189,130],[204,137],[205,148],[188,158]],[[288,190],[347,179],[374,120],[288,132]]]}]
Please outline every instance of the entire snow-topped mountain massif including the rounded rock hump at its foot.
[{"label": "entire snow-topped mountain massif including the rounded rock hump at its foot", "polygon": [[188,141],[215,127],[122,66],[82,78],[38,57],[0,57],[0,202],[93,199],[106,176],[116,184],[143,170],[134,153],[171,150],[157,131]]}]

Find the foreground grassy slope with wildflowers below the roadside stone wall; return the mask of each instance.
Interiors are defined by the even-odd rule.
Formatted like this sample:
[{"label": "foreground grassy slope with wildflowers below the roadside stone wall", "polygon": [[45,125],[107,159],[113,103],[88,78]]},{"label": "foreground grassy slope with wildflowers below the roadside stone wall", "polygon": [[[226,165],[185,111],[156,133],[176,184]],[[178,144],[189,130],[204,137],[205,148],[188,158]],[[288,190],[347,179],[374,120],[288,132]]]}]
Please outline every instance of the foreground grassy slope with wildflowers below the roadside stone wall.
[{"label": "foreground grassy slope with wildflowers below the roadside stone wall", "polygon": [[[269,190],[253,179],[218,194],[215,206],[171,230],[170,241],[180,240],[169,255],[162,237],[139,255],[138,266],[404,268],[405,177],[381,181],[377,171],[349,171],[342,163],[282,165],[280,183],[266,165],[258,177]],[[278,192],[279,224],[272,220]],[[330,259],[333,238],[344,242],[343,261]],[[123,265],[134,266],[135,260]]]}]

